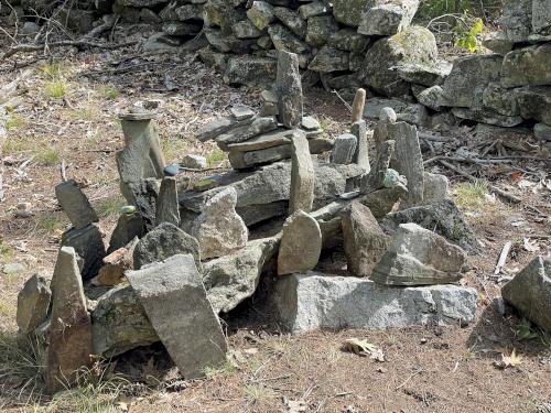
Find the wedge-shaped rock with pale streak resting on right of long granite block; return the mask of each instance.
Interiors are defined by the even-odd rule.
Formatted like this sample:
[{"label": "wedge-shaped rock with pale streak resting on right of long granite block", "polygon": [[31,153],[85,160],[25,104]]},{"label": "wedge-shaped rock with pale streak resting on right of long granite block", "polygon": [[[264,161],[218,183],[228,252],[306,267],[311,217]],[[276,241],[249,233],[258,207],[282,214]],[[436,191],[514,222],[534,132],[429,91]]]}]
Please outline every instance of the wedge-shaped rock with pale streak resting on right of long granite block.
[{"label": "wedge-shaped rock with pale streak resting on right of long granite block", "polygon": [[465,252],[417,224],[402,224],[371,280],[387,285],[446,284],[461,280]]}]

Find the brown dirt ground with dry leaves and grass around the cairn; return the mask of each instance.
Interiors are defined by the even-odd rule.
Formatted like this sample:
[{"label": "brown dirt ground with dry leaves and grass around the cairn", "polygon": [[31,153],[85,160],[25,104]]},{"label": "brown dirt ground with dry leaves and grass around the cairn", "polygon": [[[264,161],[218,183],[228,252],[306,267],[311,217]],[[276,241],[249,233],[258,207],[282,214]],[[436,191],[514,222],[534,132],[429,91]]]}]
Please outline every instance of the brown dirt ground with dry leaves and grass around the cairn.
[{"label": "brown dirt ground with dry leaves and grass around the cairn", "polygon": [[[0,203],[0,267],[23,265],[22,271],[0,273],[4,340],[17,334],[19,290],[33,273],[51,276],[61,233],[68,225],[53,193],[62,162],[69,177],[84,183],[107,240],[123,203],[115,164],[115,152],[122,145],[117,118],[121,110],[137,101],[158,101],[168,161],[203,154],[216,169],[208,173],[218,173],[228,167],[225,157],[213,143],[195,140],[194,131],[231,105],[258,107],[259,89],[225,86],[193,54],[141,58],[134,52],[139,51],[60,50],[55,59],[20,54],[0,62],[0,87],[32,69],[10,112],[1,154],[6,194]],[[168,91],[166,85],[176,89]],[[334,138],[347,128],[349,113],[337,95],[306,88],[305,96],[305,111],[321,120],[324,133]],[[453,135],[455,150],[463,145],[480,153],[491,142],[475,138],[467,126]],[[162,347],[153,346],[111,363],[110,369],[128,380],[112,391],[96,387],[91,393],[36,402],[28,399],[28,389],[20,391],[21,381],[10,378],[13,369],[0,363],[0,406],[44,412],[550,412],[551,336],[510,312],[503,315],[496,301],[507,276],[536,254],[551,253],[549,163],[532,159],[541,153],[531,137],[499,138],[509,143],[509,154],[525,159],[461,167],[511,191],[520,204],[503,203],[486,185],[466,185],[437,163],[428,166],[450,177],[453,196],[484,247],[484,256],[471,259],[472,269],[462,281],[479,292],[471,326],[289,336],[257,296],[227,317],[230,361],[206,380],[179,380]],[[522,144],[525,151],[511,151],[510,144]],[[450,148],[436,142],[432,150],[445,155]],[[426,159],[433,155],[429,148]],[[17,217],[18,206],[25,203],[32,215]],[[506,267],[493,276],[499,251],[509,240],[514,246]],[[342,351],[344,340],[352,337],[380,348],[385,360]],[[509,365],[505,368],[504,357]],[[86,394],[88,400],[76,404]]]}]

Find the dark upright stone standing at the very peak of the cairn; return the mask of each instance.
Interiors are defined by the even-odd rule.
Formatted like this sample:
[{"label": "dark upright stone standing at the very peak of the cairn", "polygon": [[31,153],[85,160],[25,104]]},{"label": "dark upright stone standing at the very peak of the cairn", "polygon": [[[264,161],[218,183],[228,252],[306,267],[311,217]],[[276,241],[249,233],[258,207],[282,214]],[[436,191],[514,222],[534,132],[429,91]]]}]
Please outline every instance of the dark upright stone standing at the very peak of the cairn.
[{"label": "dark upright stone standing at the very peak of the cairn", "polygon": [[288,128],[298,128],[302,122],[302,83],[299,70],[299,56],[294,53],[278,52],[278,118]]}]

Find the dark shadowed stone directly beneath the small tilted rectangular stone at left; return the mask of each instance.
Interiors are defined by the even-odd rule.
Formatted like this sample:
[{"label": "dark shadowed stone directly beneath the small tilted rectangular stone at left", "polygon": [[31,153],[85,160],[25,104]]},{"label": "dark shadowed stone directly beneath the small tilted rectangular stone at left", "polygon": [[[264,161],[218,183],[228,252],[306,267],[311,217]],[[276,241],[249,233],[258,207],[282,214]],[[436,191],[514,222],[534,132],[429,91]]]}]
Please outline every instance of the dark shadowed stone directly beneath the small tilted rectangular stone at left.
[{"label": "dark shadowed stone directly beneath the small tilted rectangular stone at left", "polygon": [[94,224],[83,229],[71,228],[63,232],[62,247],[73,247],[83,259],[80,273],[83,280],[89,280],[96,276],[104,259],[105,246],[98,227]]}]

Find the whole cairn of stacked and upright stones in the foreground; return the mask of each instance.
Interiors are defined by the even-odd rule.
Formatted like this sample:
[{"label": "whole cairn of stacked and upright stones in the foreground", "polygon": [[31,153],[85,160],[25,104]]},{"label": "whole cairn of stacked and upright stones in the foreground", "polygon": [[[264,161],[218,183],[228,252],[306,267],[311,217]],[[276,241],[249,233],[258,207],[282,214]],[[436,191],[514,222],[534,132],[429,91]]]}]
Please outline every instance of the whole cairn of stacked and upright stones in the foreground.
[{"label": "whole cairn of stacked and upright stones in the foreground", "polygon": [[[447,180],[423,172],[415,127],[387,108],[370,142],[358,89],[350,133],[332,143],[303,116],[299,56],[280,52],[278,67],[260,113],[236,107],[197,132],[235,171],[191,189],[177,165],[165,165],[154,113],[121,115],[128,206],[107,249],[78,184],[56,186],[73,227],[50,286],[34,275],[18,300],[21,332],[48,343],[52,392],[74,384],[89,355],[156,341],[185,379],[204,376],[226,358],[218,315],[250,297],[264,273],[277,279],[270,305],[293,333],[473,320],[476,291],[453,283],[476,240],[446,199]],[[329,162],[312,155],[325,151]],[[320,270],[339,249],[347,271]]]}]

